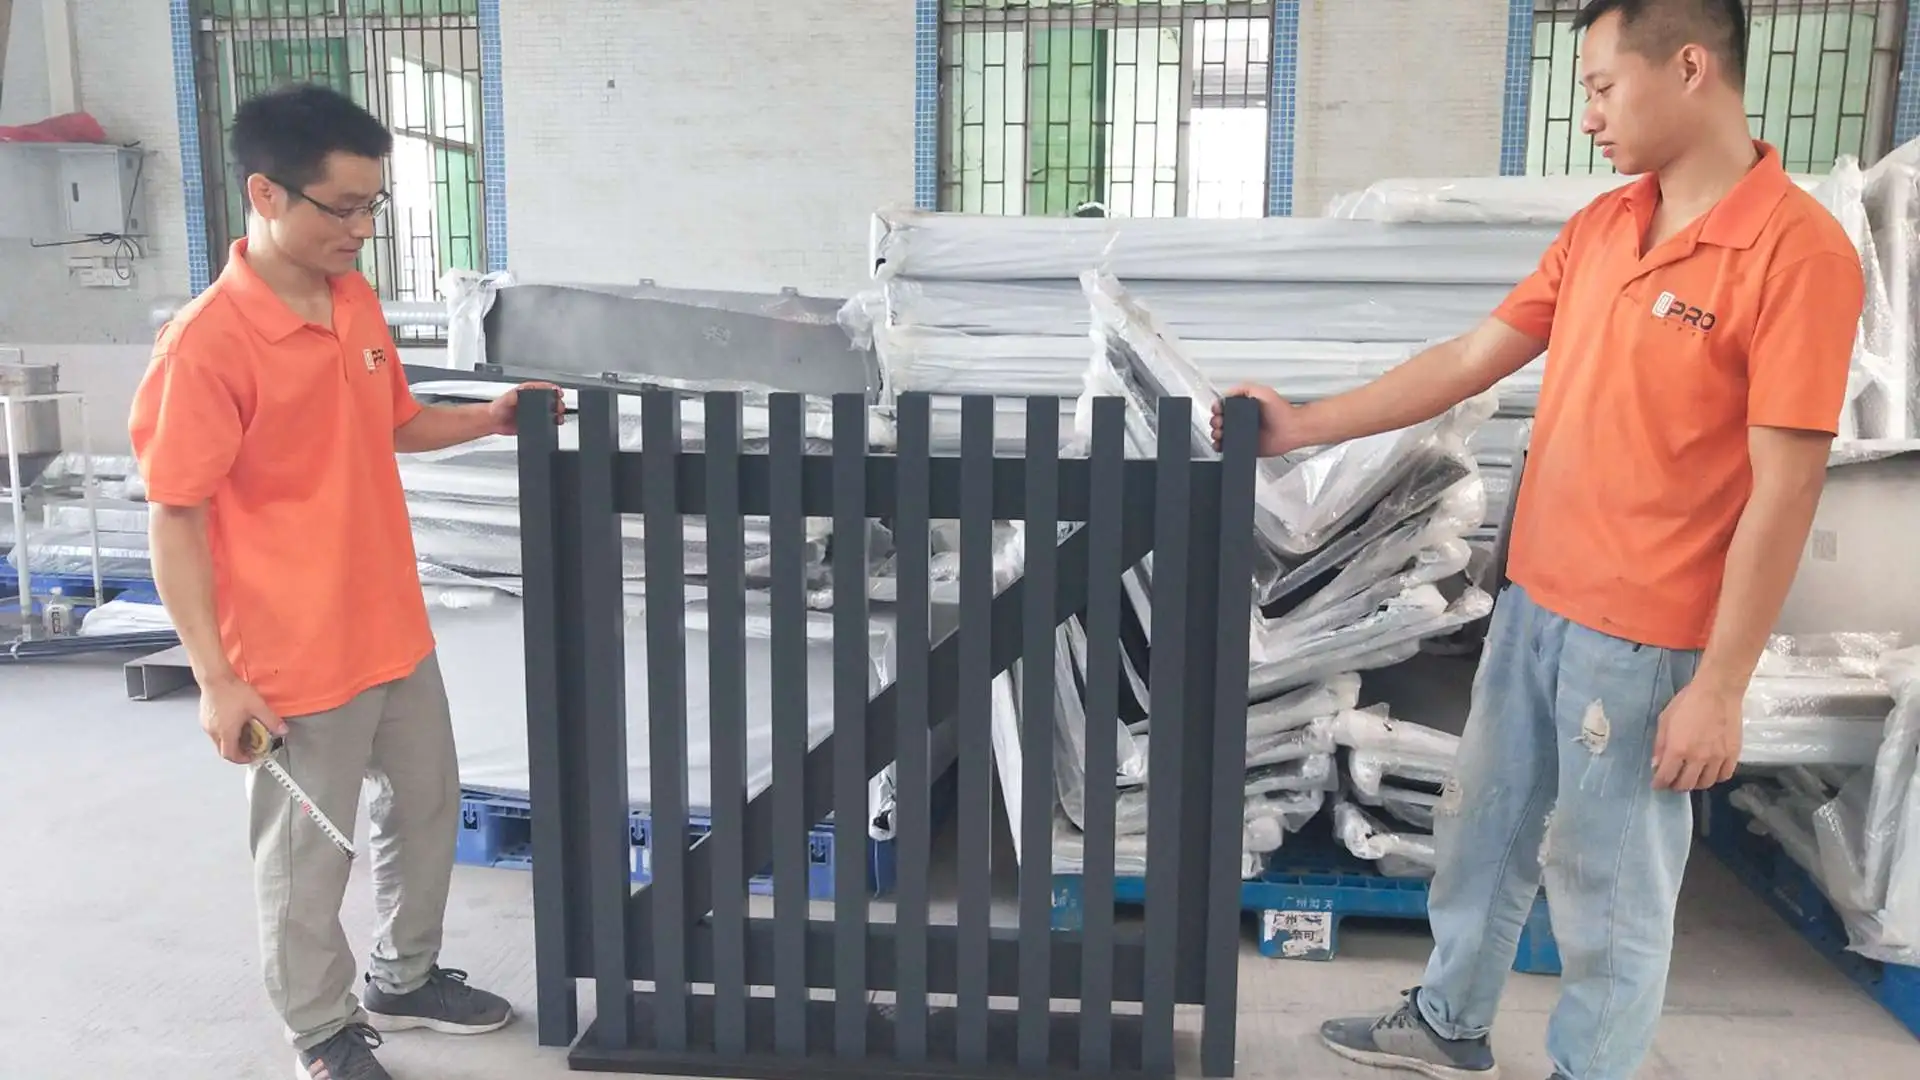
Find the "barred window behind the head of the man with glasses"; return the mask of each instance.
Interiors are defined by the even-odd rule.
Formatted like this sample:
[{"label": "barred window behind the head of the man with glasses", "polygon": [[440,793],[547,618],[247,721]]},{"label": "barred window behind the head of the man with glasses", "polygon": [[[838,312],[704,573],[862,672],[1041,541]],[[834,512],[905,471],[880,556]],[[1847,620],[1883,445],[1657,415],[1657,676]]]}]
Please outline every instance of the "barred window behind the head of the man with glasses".
[{"label": "barred window behind the head of the man with glasses", "polygon": [[215,273],[246,234],[227,136],[240,102],[284,83],[349,94],[394,131],[394,200],[361,252],[386,300],[436,300],[486,267],[478,0],[194,0],[194,58]]}]

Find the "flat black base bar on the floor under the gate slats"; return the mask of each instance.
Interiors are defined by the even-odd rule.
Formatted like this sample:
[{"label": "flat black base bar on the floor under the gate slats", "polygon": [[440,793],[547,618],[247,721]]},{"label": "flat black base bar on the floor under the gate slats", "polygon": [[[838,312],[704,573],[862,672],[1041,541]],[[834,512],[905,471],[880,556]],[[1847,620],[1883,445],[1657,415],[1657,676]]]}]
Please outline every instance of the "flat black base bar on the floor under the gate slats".
[{"label": "flat black base bar on the floor under the gate slats", "polygon": [[[605,1049],[599,1045],[595,1028],[589,1024],[574,1042],[566,1055],[566,1065],[586,1072],[628,1072],[645,1076],[712,1076],[741,1080],[1004,1080],[1016,1072],[1014,1047],[1018,1036],[1018,1013],[987,1013],[987,1061],[977,1065],[958,1065],[958,1009],[927,1009],[927,1053],[925,1061],[906,1063],[895,1057],[895,1013],[891,1005],[868,1005],[866,1047],[858,1057],[833,1055],[835,1013],[831,999],[812,999],[806,1003],[806,1045],[824,1047],[804,1057],[780,1055],[774,1049],[774,999],[747,999],[747,1053],[714,1053],[714,999],[708,994],[693,994],[687,1003],[687,1049],[668,1053],[660,1049]],[[651,1043],[655,1032],[655,995],[634,992],[632,1032],[637,1043]],[[1041,1070],[1020,1070],[1020,1076],[1077,1078],[1087,1072],[1079,1067],[1081,1022],[1077,1013],[1054,1013],[1048,1019],[1048,1042],[1052,1053],[1048,1067]],[[1142,1024],[1137,1013],[1116,1013],[1112,1019],[1114,1057],[1102,1070],[1104,1076],[1123,1076],[1139,1080],[1171,1080],[1173,1072],[1144,1072],[1140,1068]]]}]

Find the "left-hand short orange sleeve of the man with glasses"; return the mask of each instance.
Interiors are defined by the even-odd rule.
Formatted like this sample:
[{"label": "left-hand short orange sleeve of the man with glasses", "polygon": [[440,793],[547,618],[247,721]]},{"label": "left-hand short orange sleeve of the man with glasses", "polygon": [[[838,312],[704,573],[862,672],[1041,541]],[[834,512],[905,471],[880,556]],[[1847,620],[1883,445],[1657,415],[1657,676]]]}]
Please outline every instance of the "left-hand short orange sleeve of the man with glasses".
[{"label": "left-hand short orange sleeve of the man with glasses", "polygon": [[127,434],[148,502],[200,505],[227,480],[240,452],[240,402],[213,365],[175,342],[140,379]]}]

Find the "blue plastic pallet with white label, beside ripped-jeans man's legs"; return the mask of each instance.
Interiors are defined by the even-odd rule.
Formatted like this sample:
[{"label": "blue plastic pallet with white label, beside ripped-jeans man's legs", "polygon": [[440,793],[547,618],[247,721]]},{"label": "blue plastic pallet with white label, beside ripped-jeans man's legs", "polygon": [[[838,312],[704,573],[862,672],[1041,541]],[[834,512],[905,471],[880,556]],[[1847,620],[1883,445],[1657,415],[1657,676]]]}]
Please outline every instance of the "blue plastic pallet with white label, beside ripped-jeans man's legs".
[{"label": "blue plastic pallet with white label, beside ripped-jeans man's legs", "polygon": [[[1331,961],[1340,949],[1340,922],[1348,917],[1427,920],[1425,880],[1380,876],[1365,861],[1334,851],[1332,838],[1313,826],[1286,842],[1292,847],[1283,847],[1261,876],[1240,882],[1240,909],[1252,911],[1258,920],[1260,955]],[[1146,878],[1116,878],[1114,901],[1146,903]],[[1054,874],[1054,928],[1079,930],[1083,919],[1081,876]],[[1544,896],[1534,901],[1521,930],[1513,970],[1561,970]]]}]

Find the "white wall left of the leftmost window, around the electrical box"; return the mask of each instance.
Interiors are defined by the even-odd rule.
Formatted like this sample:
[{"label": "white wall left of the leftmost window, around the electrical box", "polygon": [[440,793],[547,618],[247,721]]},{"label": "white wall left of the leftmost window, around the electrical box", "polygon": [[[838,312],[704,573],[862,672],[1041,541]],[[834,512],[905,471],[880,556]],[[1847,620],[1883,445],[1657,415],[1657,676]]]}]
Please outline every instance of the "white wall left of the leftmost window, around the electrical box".
[{"label": "white wall left of the leftmost window, around the electrical box", "polygon": [[[15,0],[15,21],[38,0]],[[108,248],[35,250],[27,240],[0,240],[0,342],[127,342],[144,350],[154,340],[148,311],[157,298],[184,298],[186,208],[180,200],[180,125],[173,108],[173,46],[165,0],[71,0],[81,108],[115,142],[138,140],[152,156],[140,177],[150,236],[146,258],[134,261],[129,288],[81,288],[67,277],[67,258],[109,254]],[[31,13],[40,35],[38,12]],[[42,38],[44,40],[44,38]],[[21,44],[10,42],[10,52]],[[33,75],[44,79],[44,60]],[[12,79],[8,79],[12,83]],[[13,90],[8,90],[13,100]],[[35,113],[46,94],[23,92]],[[10,113],[19,111],[10,108]],[[27,123],[44,115],[8,115]],[[6,198],[0,194],[0,198]],[[71,380],[69,380],[71,382]]]}]

